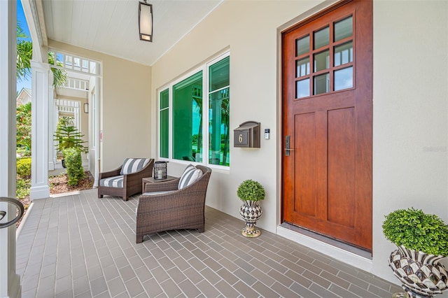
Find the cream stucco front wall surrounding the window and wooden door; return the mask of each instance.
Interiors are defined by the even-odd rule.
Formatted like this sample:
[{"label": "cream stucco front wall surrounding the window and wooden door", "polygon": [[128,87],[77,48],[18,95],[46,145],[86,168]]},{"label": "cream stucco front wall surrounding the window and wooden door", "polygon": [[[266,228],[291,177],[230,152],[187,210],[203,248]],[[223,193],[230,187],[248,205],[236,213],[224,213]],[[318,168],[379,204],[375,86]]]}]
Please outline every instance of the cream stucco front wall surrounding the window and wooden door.
[{"label": "cream stucco front wall surrounding the window and wooden door", "polygon": [[[230,148],[230,171],[214,170],[207,204],[239,218],[236,191],[246,178],[267,197],[258,226],[276,232],[281,154],[279,30],[329,2],[224,1],[152,68],[151,155],[157,152],[157,90],[230,50],[230,128],[261,122],[261,148]],[[316,7],[319,6],[319,7]],[[405,7],[404,7],[405,6]],[[381,232],[386,213],[414,206],[448,222],[447,1],[374,1],[373,256],[370,271],[395,282],[393,245]],[[185,164],[169,162],[180,175]],[[369,261],[370,262],[370,261]]]}]

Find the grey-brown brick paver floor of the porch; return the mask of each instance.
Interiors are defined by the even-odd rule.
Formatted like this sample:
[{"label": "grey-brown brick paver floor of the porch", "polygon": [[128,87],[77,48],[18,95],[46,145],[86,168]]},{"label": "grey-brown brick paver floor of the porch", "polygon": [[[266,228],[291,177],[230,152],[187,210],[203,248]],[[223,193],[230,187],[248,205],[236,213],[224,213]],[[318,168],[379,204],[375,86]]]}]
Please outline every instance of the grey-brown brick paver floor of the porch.
[{"label": "grey-brown brick paver floor of the porch", "polygon": [[205,232],[135,243],[138,196],[35,200],[18,231],[22,297],[391,297],[397,285],[206,208]]}]

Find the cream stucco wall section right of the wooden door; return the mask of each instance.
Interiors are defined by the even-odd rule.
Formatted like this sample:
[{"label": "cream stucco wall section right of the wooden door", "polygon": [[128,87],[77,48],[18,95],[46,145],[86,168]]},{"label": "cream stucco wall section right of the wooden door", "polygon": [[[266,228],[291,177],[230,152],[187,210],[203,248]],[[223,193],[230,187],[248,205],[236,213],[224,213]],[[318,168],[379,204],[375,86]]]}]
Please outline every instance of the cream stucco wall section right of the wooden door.
[{"label": "cream stucco wall section right of the wooden door", "polygon": [[384,215],[414,206],[448,222],[447,15],[447,1],[374,2],[373,270],[380,276],[391,276],[384,262],[394,248],[382,234]]}]

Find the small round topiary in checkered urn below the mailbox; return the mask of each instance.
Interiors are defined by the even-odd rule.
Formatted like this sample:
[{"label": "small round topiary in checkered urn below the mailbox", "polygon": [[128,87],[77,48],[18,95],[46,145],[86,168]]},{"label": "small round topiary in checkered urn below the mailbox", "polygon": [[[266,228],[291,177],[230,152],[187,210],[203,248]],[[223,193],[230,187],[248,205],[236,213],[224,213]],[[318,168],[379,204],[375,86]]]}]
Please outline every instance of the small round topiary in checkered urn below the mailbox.
[{"label": "small round topiary in checkered urn below the mailbox", "polygon": [[244,180],[238,187],[237,195],[241,201],[244,201],[239,208],[239,214],[246,222],[246,227],[241,229],[241,234],[246,237],[260,236],[261,232],[255,224],[262,215],[258,201],[265,199],[265,188],[257,181]]}]

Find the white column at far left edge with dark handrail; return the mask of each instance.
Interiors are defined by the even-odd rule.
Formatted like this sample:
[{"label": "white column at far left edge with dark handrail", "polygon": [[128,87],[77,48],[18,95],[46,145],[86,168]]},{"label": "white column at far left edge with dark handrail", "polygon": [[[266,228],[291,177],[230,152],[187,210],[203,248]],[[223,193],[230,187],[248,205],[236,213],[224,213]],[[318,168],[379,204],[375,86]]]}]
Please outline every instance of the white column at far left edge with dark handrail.
[{"label": "white column at far left edge with dark handrail", "polygon": [[[0,197],[15,197],[16,1],[0,1]],[[0,203],[8,218],[15,208]],[[15,225],[0,229],[0,297],[20,297],[15,274]]]}]

